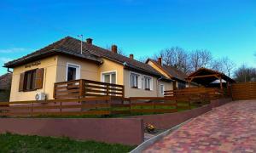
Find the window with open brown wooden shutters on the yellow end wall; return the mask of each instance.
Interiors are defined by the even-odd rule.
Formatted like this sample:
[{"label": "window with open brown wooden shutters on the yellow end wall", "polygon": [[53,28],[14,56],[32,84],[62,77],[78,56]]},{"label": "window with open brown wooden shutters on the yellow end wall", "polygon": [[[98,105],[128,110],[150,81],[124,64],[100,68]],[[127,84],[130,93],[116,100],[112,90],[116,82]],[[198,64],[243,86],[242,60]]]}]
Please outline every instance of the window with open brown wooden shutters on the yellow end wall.
[{"label": "window with open brown wooden shutters on the yellow end wall", "polygon": [[20,73],[19,91],[32,91],[43,88],[44,68]]}]

